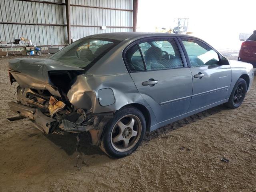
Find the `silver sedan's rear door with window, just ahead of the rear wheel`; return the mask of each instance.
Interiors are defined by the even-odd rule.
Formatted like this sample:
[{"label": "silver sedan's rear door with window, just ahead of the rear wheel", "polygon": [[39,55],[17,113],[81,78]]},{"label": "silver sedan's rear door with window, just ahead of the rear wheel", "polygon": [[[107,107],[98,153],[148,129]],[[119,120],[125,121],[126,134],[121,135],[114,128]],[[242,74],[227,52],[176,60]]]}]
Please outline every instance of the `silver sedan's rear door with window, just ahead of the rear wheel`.
[{"label": "silver sedan's rear door with window, just ahead of the rear wheel", "polygon": [[125,51],[125,60],[130,76],[158,122],[187,112],[192,95],[192,75],[186,62],[182,62],[174,38],[136,42]]}]

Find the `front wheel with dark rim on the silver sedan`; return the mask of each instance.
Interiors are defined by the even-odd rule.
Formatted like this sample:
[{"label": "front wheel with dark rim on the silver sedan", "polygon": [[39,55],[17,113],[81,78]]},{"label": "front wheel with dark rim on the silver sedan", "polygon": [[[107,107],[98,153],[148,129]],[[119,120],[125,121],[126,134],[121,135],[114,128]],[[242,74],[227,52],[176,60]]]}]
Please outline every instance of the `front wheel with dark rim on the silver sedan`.
[{"label": "front wheel with dark rim on the silver sedan", "polygon": [[246,81],[242,78],[239,78],[231,92],[231,95],[229,97],[228,102],[226,103],[226,106],[232,109],[238,108],[244,101],[246,92]]}]

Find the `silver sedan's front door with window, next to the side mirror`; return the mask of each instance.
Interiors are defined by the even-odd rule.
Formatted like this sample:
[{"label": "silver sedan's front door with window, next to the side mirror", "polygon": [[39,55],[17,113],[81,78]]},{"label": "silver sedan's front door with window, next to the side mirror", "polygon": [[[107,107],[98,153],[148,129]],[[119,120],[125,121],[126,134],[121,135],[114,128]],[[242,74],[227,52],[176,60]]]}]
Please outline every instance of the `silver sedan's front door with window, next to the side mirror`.
[{"label": "silver sedan's front door with window, next to the side mirror", "polygon": [[218,53],[193,38],[182,38],[193,77],[193,94],[188,112],[229,97],[232,72],[230,65],[219,65]]}]

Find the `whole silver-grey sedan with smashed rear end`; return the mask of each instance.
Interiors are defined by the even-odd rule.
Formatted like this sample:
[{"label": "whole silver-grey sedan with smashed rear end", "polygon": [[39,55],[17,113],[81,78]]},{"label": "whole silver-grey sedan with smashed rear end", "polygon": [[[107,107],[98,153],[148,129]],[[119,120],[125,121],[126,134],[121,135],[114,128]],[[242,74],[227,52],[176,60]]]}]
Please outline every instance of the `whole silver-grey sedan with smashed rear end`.
[{"label": "whole silver-grey sedan with smashed rear end", "polygon": [[9,62],[18,102],[10,109],[46,134],[90,132],[93,145],[123,157],[152,131],[226,103],[239,107],[251,64],[229,61],[179,34],[92,35],[48,59]]}]

